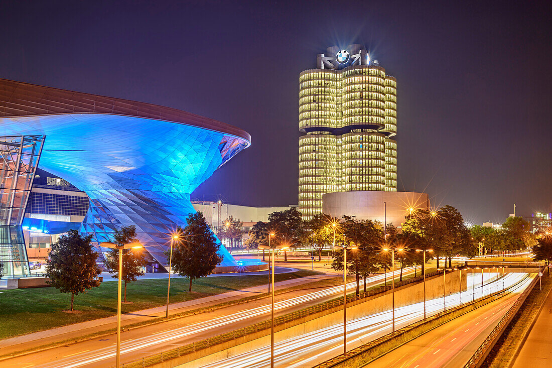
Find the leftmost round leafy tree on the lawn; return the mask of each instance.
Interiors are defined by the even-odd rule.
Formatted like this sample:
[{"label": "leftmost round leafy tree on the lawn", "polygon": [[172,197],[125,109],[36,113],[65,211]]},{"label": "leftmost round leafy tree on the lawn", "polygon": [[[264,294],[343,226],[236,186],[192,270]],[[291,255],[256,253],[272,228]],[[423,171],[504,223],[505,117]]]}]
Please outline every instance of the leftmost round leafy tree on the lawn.
[{"label": "leftmost round leafy tree on the lawn", "polygon": [[46,281],[62,293],[71,293],[73,300],[78,293],[100,285],[98,275],[102,272],[96,260],[98,253],[92,249],[92,235],[82,236],[77,230],[69,230],[52,244],[46,263]]}]

